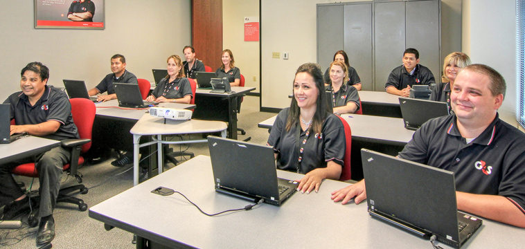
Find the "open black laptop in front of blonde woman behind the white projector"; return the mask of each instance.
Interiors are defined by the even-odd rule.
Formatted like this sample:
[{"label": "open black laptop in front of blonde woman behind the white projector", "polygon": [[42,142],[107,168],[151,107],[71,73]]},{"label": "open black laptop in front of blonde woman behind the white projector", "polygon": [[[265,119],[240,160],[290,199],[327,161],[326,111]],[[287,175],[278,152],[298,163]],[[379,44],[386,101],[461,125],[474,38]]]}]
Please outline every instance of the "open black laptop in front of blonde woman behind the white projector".
[{"label": "open black laptop in front of blonde woman behind the white projector", "polygon": [[148,108],[157,105],[157,102],[147,102],[142,100],[139,84],[113,82],[113,89],[118,99],[119,107],[127,108]]}]

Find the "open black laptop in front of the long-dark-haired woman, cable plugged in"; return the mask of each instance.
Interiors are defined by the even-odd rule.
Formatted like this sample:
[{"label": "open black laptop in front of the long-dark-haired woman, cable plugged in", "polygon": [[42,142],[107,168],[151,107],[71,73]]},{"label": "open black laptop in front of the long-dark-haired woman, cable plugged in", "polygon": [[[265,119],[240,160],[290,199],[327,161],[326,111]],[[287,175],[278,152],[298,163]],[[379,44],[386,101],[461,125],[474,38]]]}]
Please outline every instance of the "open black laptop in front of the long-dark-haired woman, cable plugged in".
[{"label": "open black laptop in front of the long-dark-haired woman, cable plugged in", "polygon": [[208,136],[215,191],[257,203],[281,205],[296,192],[296,181],[277,178],[274,149]]}]

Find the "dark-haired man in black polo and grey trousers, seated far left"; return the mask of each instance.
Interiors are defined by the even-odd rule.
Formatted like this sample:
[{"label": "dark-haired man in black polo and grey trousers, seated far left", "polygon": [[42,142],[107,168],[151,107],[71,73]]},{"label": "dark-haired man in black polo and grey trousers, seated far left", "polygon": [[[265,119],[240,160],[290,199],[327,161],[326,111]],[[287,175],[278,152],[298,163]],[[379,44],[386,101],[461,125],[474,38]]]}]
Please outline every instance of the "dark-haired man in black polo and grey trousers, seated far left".
[{"label": "dark-haired man in black polo and grey trousers, seated far left", "polygon": [[[71,104],[64,91],[47,85],[49,71],[40,62],[31,62],[21,71],[20,88],[4,101],[11,105],[11,134],[27,132],[32,136],[63,140],[79,138],[71,116]],[[69,162],[71,154],[62,147],[51,149],[38,156],[0,165],[0,205],[6,205],[3,217],[9,219],[10,211],[28,203],[28,196],[21,191],[11,175],[11,170],[22,163],[36,163],[39,173],[39,227],[37,245],[49,243],[55,237],[53,208],[60,190],[62,165]]]}]

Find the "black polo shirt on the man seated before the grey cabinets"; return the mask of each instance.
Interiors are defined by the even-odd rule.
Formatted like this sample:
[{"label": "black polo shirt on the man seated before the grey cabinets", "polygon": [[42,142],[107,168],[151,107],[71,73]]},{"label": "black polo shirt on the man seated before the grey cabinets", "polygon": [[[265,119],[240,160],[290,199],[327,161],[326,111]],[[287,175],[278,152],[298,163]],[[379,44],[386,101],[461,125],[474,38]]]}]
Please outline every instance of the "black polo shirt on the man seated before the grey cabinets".
[{"label": "black polo shirt on the man seated before the grey cabinets", "polygon": [[412,87],[415,84],[429,85],[434,83],[436,83],[434,75],[426,66],[417,64],[416,70],[410,75],[407,69],[401,65],[392,70],[389,75],[389,80],[384,85],[384,89],[387,89],[389,86],[394,86],[395,89],[401,90],[406,89],[407,86]]}]

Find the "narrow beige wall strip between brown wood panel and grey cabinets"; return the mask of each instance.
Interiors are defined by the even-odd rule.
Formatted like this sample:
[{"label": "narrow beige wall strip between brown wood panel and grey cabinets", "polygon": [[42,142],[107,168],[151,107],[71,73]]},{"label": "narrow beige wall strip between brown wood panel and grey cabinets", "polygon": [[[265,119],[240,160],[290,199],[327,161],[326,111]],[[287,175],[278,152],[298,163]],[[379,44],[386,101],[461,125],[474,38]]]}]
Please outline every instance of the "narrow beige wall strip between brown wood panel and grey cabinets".
[{"label": "narrow beige wall strip between brown wood panel and grey cabinets", "polygon": [[[233,53],[235,66],[244,75],[245,86],[256,87],[253,92],[260,91],[259,42],[244,42],[244,17],[258,16],[258,0],[222,0],[222,46]],[[220,60],[220,55],[217,55],[217,60]],[[255,81],[253,77],[256,77]]]}]

